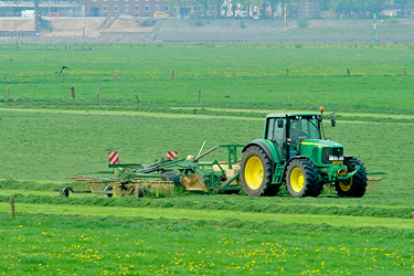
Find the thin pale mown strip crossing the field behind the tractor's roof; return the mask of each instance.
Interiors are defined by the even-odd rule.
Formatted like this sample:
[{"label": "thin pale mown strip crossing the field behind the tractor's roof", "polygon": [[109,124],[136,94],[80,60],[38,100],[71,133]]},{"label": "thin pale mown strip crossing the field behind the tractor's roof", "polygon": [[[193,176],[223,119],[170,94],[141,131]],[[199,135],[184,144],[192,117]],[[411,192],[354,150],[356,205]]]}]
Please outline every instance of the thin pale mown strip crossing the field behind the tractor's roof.
[{"label": "thin pale mown strip crossing the field behind the tractor's roof", "polygon": [[[156,106],[150,104],[137,105],[132,103],[120,104],[51,104],[51,103],[24,103],[17,102],[1,105],[1,110],[3,112],[28,112],[28,113],[66,113],[66,114],[93,114],[93,115],[144,115],[148,114],[151,116],[167,116],[172,115],[191,115],[193,117],[200,116],[211,116],[212,118],[227,117],[227,118],[256,118],[257,120],[263,120],[267,114],[272,113],[319,113],[319,108],[314,110],[307,110],[304,106],[301,110],[293,110],[291,106],[285,106],[284,109],[229,109],[229,108],[209,108],[209,107],[172,107],[172,106]],[[393,114],[392,110],[388,114],[362,114],[362,113],[338,113],[337,109],[330,109],[325,114],[326,118],[336,118],[337,120],[347,121],[378,121],[378,123],[404,123],[414,124],[414,115],[404,114],[397,115]],[[372,112],[372,110],[371,110]]]}]

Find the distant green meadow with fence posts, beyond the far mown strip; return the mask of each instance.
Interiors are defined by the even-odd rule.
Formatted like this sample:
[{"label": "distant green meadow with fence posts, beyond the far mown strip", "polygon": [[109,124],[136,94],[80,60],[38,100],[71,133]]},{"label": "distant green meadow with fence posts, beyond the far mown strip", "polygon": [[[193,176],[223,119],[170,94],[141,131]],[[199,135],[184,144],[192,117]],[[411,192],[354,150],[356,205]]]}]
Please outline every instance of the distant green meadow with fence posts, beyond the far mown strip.
[{"label": "distant green meadow with fence posts, beyond the far mown strip", "polygon": [[[338,112],[413,114],[412,98],[405,93],[413,76],[410,45],[326,49],[309,44],[298,49],[272,44],[138,44],[94,45],[93,51],[78,51],[79,47],[72,45],[65,51],[63,45],[56,45],[51,51],[42,44],[25,44],[17,50],[3,44],[0,61],[7,66],[0,73],[7,74],[7,81],[2,89],[9,86],[11,100],[18,102],[94,103],[99,87],[102,104],[136,106],[138,95],[142,103],[153,105],[198,106],[201,88],[202,105],[213,107],[316,109],[323,104]],[[54,73],[62,64],[71,68],[64,82]],[[347,68],[351,76],[347,76]],[[173,81],[171,71],[176,72]],[[75,87],[75,100],[71,99],[71,87]]]}]

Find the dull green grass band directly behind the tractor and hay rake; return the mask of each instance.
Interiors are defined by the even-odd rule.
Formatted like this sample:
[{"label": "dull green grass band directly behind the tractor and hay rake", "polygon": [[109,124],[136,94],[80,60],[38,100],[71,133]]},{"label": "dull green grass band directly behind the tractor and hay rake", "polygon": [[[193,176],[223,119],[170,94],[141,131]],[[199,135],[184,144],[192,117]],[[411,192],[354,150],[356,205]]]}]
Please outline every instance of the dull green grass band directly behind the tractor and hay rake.
[{"label": "dull green grass band directly behind the tractor and hay rake", "polygon": [[[195,155],[203,140],[205,148],[217,144],[247,144],[263,132],[263,118],[219,117],[212,115],[180,115],[171,117],[125,115],[95,115],[81,113],[51,113],[4,110],[0,138],[9,141],[4,155],[2,178],[70,180],[76,172],[103,170],[107,152],[119,151],[121,162],[152,162],[167,150],[177,150],[180,157]],[[115,112],[113,112],[115,114]],[[410,151],[406,141],[412,124],[372,121],[338,123],[326,126],[326,134],[341,142],[347,155],[358,155],[371,170],[390,171],[383,180],[381,195],[389,204],[411,204],[410,155],[400,155],[401,145]],[[18,137],[15,134],[20,134]],[[173,139],[171,139],[173,137]],[[151,142],[148,142],[150,140]],[[182,140],[187,140],[182,144]],[[225,152],[205,160],[225,159]],[[399,164],[397,167],[393,164]],[[24,169],[31,168],[31,169]],[[373,201],[380,201],[372,195]],[[364,199],[367,201],[367,199]]]}]

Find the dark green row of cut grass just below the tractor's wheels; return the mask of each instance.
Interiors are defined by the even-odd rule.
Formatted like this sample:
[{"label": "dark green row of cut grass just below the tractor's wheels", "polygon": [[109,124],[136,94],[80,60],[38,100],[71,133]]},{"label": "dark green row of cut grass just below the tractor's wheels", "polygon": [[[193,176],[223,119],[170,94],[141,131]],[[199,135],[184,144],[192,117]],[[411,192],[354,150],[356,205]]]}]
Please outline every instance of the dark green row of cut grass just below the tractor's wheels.
[{"label": "dark green row of cut grass just below the tractor's wheels", "polygon": [[[320,198],[318,203],[295,202],[286,199],[248,199],[243,195],[203,195],[173,197],[166,199],[107,199],[98,197],[70,198],[47,195],[22,195],[14,194],[19,203],[43,203],[59,205],[88,205],[88,206],[123,206],[123,208],[171,208],[183,210],[226,210],[254,213],[287,213],[287,214],[319,214],[319,215],[349,215],[349,216],[373,216],[373,217],[401,217],[411,219],[412,206],[376,206],[359,205],[352,202],[335,204],[333,200]],[[0,194],[0,202],[9,202],[10,197]],[[337,201],[340,201],[338,199]]]}]

